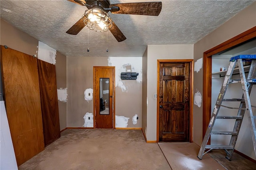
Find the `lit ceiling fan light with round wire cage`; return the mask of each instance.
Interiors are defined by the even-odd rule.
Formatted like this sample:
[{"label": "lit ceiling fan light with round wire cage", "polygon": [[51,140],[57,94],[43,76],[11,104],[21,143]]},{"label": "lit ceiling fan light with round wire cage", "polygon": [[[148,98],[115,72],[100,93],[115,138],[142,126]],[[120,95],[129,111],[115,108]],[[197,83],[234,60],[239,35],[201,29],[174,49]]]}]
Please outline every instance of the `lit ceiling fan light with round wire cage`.
[{"label": "lit ceiling fan light with round wire cage", "polygon": [[84,24],[88,26],[90,30],[96,32],[108,31],[112,28],[113,20],[109,14],[102,9],[92,8],[86,10],[82,15]]}]

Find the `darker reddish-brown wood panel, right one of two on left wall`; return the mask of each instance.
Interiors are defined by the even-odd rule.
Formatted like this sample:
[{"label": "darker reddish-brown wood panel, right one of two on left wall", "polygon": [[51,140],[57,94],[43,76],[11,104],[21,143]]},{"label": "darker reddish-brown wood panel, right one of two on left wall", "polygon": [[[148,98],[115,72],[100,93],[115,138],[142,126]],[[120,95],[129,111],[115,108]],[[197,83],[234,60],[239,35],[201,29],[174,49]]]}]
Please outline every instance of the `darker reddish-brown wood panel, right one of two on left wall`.
[{"label": "darker reddish-brown wood panel, right one of two on left wall", "polygon": [[47,146],[60,138],[57,82],[55,65],[38,60],[44,145]]}]

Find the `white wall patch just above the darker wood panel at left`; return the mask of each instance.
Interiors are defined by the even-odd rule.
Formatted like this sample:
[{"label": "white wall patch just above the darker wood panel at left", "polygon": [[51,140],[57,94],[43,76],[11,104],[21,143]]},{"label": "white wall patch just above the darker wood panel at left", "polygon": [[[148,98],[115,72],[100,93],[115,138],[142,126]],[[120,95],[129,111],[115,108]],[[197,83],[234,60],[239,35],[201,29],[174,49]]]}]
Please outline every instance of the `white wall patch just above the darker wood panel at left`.
[{"label": "white wall patch just above the darker wood panel at left", "polygon": [[38,41],[38,59],[55,64],[56,50]]}]

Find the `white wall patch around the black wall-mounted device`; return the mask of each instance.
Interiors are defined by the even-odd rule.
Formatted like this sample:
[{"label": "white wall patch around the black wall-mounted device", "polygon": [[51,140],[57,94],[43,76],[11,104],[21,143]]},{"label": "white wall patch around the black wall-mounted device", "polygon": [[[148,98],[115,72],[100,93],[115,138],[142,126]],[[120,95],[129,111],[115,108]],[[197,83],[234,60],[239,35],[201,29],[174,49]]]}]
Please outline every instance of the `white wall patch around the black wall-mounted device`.
[{"label": "white wall patch around the black wall-mounted device", "polygon": [[116,87],[120,87],[122,92],[127,92],[128,89],[121,80],[121,72],[137,72],[139,75],[136,82],[142,82],[142,57],[109,57],[108,66],[115,66]]}]

